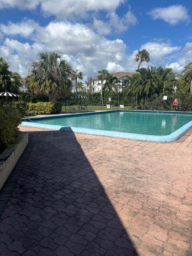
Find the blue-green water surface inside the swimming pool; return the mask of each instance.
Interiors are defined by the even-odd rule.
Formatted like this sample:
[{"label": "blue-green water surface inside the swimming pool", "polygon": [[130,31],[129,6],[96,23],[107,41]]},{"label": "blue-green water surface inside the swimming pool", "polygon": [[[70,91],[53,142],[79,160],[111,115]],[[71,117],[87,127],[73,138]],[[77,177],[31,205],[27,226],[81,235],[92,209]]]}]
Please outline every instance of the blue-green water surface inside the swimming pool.
[{"label": "blue-green water surface inside the swimming pool", "polygon": [[192,114],[117,111],[34,118],[33,121],[41,124],[161,136],[169,135],[192,121]]}]

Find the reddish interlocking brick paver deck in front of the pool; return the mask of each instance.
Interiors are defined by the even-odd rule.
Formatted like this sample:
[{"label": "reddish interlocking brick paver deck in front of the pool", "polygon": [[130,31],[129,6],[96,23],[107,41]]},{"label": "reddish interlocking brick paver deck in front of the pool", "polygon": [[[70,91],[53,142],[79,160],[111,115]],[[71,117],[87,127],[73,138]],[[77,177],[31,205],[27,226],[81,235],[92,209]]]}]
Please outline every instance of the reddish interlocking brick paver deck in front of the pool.
[{"label": "reddish interlocking brick paver deck in front of the pool", "polygon": [[192,130],[156,143],[21,129],[32,150],[2,215],[1,256],[192,255]]}]

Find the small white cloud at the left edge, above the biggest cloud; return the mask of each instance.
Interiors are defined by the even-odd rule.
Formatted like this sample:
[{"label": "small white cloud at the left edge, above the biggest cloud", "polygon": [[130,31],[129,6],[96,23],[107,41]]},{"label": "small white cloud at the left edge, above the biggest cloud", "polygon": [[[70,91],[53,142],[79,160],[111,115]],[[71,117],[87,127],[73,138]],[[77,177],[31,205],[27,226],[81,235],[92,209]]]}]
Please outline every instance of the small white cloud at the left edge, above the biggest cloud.
[{"label": "small white cloud at the left edge, above the biggest cloud", "polygon": [[9,22],[8,25],[0,24],[0,30],[6,35],[20,35],[27,38],[34,32],[37,26],[34,20],[23,20],[18,23]]}]

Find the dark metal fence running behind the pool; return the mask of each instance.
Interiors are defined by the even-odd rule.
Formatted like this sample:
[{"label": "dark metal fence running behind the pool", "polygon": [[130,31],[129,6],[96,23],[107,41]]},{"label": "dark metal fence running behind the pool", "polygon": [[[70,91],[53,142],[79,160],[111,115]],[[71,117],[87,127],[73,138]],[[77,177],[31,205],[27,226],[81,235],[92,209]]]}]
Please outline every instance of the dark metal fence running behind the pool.
[{"label": "dark metal fence running behind the pool", "polygon": [[[75,95],[75,94],[74,94]],[[62,104],[62,111],[83,110],[84,106],[88,110],[105,110],[106,104],[110,104],[111,108],[118,109],[120,104],[124,104],[127,109],[134,110],[167,110],[167,111],[192,111],[192,95],[152,95],[152,96],[125,96],[124,94],[104,93],[103,104],[100,93],[87,95],[87,98],[72,98],[73,94],[67,98],[59,98]],[[31,93],[20,93],[20,100],[24,102],[48,101],[46,96],[38,96]],[[167,97],[164,97],[167,96]],[[174,99],[178,100],[178,106],[173,105]]]}]

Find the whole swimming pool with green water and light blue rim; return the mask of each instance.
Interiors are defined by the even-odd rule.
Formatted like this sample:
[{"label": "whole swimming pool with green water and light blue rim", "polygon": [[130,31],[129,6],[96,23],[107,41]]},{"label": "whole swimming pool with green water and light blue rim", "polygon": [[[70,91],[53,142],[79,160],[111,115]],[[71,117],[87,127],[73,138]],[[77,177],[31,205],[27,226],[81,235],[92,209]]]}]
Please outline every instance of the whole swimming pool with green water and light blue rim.
[{"label": "whole swimming pool with green water and light blue rim", "polygon": [[103,111],[30,118],[22,125],[139,140],[172,141],[192,127],[192,113]]}]

